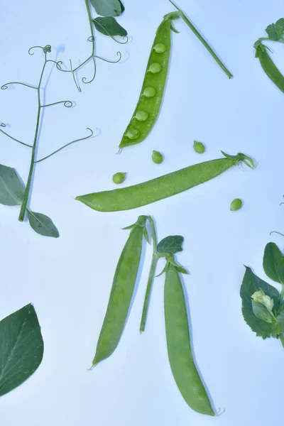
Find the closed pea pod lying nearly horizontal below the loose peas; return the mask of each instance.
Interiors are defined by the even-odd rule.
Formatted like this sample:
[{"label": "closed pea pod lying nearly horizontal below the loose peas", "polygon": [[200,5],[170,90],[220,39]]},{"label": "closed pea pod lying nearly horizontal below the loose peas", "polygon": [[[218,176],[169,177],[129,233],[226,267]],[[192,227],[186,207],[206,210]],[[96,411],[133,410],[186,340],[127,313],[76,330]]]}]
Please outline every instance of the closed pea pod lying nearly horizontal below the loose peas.
[{"label": "closed pea pod lying nearly horizontal below the loose peas", "polygon": [[99,212],[120,212],[122,210],[145,206],[146,204],[151,204],[152,202],[163,200],[164,198],[189,190],[203,182],[207,182],[207,180],[215,178],[241,161],[244,161],[251,168],[255,167],[254,161],[242,153],[224,155],[225,158],[190,165],[190,167],[139,183],[138,185],[80,195],[75,200],[79,200],[88,207],[91,207],[91,209],[98,210]]}]

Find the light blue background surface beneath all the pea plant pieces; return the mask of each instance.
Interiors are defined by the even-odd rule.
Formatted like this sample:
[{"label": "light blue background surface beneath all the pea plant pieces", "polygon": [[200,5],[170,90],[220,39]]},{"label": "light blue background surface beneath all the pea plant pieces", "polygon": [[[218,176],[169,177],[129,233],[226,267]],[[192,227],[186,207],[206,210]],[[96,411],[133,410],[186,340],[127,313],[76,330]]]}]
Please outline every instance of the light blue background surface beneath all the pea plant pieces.
[{"label": "light blue background surface beneath all the pea plant pieces", "polygon": [[[60,239],[35,234],[18,222],[18,208],[0,206],[0,317],[33,302],[45,342],[43,363],[23,386],[0,399],[5,426],[264,426],[278,422],[283,408],[284,351],[275,339],[256,338],[241,315],[239,288],[244,264],[265,279],[263,250],[268,241],[283,246],[283,105],[284,95],[254,58],[253,43],[266,26],[283,16],[283,1],[179,0],[179,6],[204,33],[234,79],[229,80],[178,21],[163,108],[151,136],[116,155],[140,92],[146,62],[166,0],[125,0],[119,23],[131,43],[118,45],[99,35],[97,53],[123,60],[97,62],[97,77],[77,92],[71,75],[53,70],[48,103],[70,99],[45,112],[38,155],[44,156],[86,128],[99,137],[70,146],[35,169],[31,208],[48,214]],[[83,0],[1,2],[0,84],[36,83],[42,57],[28,56],[32,45],[50,44],[55,59],[73,64],[90,53]],[[282,45],[273,45],[275,62],[284,69]],[[92,64],[80,77],[92,75]],[[35,126],[35,92],[15,87],[0,92],[0,121],[27,143]],[[207,146],[192,150],[194,139]],[[153,149],[165,161],[151,161]],[[111,176],[127,171],[133,185],[203,160],[220,149],[258,160],[245,173],[239,168],[204,185],[141,209],[102,214],[75,202],[76,195],[114,188]],[[0,134],[0,163],[16,168],[26,181],[28,148]],[[244,208],[230,212],[234,197]],[[185,286],[190,304],[192,344],[217,418],[194,413],[184,402],[168,364],[163,324],[163,276],[155,280],[146,332],[138,332],[151,249],[121,342],[92,372],[99,330],[114,269],[127,239],[123,226],[138,214],[151,214],[158,238],[185,236],[178,260],[190,270]],[[159,264],[158,271],[163,267]],[[269,280],[268,280],[269,282]]]}]

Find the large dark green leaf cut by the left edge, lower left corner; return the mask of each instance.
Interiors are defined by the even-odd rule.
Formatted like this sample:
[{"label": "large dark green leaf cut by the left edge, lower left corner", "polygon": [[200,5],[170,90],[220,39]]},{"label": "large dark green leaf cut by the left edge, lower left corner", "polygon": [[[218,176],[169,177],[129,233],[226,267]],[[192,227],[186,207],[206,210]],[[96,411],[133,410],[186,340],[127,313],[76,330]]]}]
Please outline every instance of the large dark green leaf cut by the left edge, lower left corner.
[{"label": "large dark green leaf cut by the left edge, lower left corner", "polygon": [[0,322],[0,396],[20,386],[43,359],[43,337],[34,307],[26,305]]}]

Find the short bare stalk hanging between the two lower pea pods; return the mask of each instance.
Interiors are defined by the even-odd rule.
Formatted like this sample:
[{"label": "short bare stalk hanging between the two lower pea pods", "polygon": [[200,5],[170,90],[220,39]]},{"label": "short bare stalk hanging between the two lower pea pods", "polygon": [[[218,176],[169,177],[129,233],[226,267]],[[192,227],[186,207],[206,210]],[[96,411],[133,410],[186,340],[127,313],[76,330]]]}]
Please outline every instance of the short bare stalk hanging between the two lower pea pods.
[{"label": "short bare stalk hanging between the two lower pea pods", "polygon": [[141,317],[141,323],[140,323],[140,332],[141,333],[145,331],[148,308],[149,308],[149,304],[150,304],[150,297],[151,297],[153,280],[154,280],[154,275],[155,275],[155,267],[157,266],[158,259],[160,258],[160,256],[158,255],[158,252],[157,252],[157,236],[156,236],[156,233],[155,233],[155,224],[154,224],[153,219],[150,216],[148,216],[148,221],[150,222],[151,234],[152,234],[152,239],[153,239],[153,256],[152,256],[151,268],[150,268],[150,272],[149,272],[149,276],[148,276],[148,283],[147,283],[147,287],[146,287],[145,300],[144,300],[144,304],[143,304],[143,311],[142,311],[142,317]]}]

